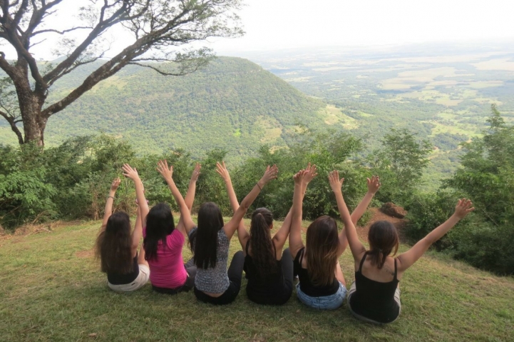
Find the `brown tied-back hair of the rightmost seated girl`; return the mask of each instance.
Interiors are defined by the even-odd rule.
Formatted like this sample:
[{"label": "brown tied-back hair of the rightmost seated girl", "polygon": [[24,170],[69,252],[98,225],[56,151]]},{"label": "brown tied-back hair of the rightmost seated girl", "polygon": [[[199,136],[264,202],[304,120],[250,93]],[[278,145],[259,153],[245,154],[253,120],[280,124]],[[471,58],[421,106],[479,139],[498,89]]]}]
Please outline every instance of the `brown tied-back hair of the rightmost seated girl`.
[{"label": "brown tied-back hair of the rightmost seated girl", "polygon": [[393,256],[398,251],[400,240],[393,223],[389,221],[376,221],[369,227],[368,233],[369,252],[371,265],[381,269],[387,256],[394,249]]}]

